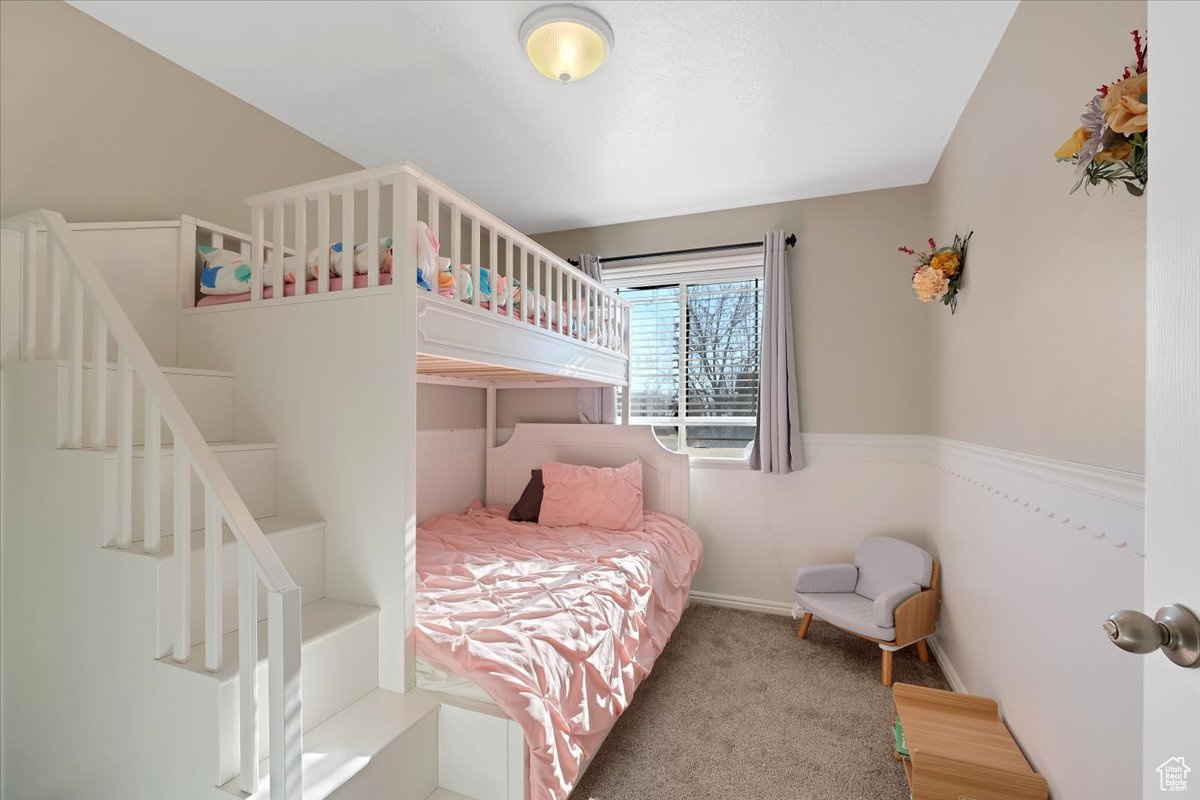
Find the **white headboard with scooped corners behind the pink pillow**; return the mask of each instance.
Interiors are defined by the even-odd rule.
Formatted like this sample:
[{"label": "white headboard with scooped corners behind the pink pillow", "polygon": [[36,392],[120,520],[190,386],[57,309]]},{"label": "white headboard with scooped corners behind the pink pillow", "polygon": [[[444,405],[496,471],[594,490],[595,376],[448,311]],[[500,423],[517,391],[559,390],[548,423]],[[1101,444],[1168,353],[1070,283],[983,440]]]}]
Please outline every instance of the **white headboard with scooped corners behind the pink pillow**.
[{"label": "white headboard with scooped corners behind the pink pillow", "polygon": [[529,470],[547,461],[589,467],[642,462],[642,501],[688,522],[688,455],[671,452],[648,425],[533,425],[518,422],[512,438],[487,451],[487,501],[512,504]]}]

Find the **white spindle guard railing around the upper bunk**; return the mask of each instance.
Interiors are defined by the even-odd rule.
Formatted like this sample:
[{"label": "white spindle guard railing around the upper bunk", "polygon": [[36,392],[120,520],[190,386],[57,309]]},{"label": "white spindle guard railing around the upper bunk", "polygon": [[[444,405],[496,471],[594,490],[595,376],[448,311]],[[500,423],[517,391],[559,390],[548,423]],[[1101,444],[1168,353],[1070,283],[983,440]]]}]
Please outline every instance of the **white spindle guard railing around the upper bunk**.
[{"label": "white spindle guard railing around the upper bunk", "polygon": [[[404,176],[416,180],[419,201],[410,211],[410,218],[392,213],[384,218],[380,198],[385,197],[385,187],[395,191],[397,181]],[[354,277],[353,243],[355,241],[355,204],[359,194],[365,194],[366,205],[359,206],[359,213],[366,213],[362,228],[366,230],[364,254],[366,255],[366,285],[378,287],[379,279],[379,237],[380,231],[390,229],[392,241],[401,241],[401,225],[415,225],[424,221],[430,225],[434,237],[440,242],[440,251],[450,257],[454,277],[457,281],[461,266],[468,265],[468,275],[475,287],[469,297],[458,296],[446,300],[438,295],[437,276],[426,276],[432,289],[432,296],[439,301],[462,302],[464,307],[478,313],[487,313],[499,319],[528,325],[551,336],[571,338],[580,343],[613,351],[629,354],[629,342],[620,331],[628,325],[629,303],[599,281],[580,272],[570,264],[558,258],[548,249],[521,234],[516,228],[504,223],[494,215],[475,205],[445,184],[426,175],[407,162],[364,169],[347,175],[338,175],[299,186],[256,194],[246,198],[251,206],[251,266],[254,270],[251,300],[262,300],[260,273],[265,269],[276,276],[282,271],[284,248],[284,218],[293,215],[294,228],[292,243],[294,251],[302,255],[298,260],[307,260],[306,242],[311,240],[307,206],[317,204],[317,247],[318,279],[313,287],[302,288],[304,270],[298,265],[296,294],[305,290],[323,293],[329,284],[322,277],[328,261],[331,240],[342,242],[342,288],[352,289]],[[330,219],[330,209],[341,206],[341,224]],[[449,230],[443,229],[442,215],[448,213]],[[266,217],[271,219],[272,241],[280,243],[272,248],[265,239]],[[467,241],[463,241],[467,239]],[[449,241],[446,241],[449,240]],[[503,247],[500,241],[503,240]],[[484,258],[484,247],[487,258]],[[485,263],[485,260],[487,263]],[[394,259],[400,264],[401,259]],[[503,269],[502,269],[503,267]],[[479,290],[482,270],[491,272],[490,283],[492,297],[485,307],[485,297]],[[499,294],[500,278],[505,278],[509,296]],[[278,283],[276,283],[278,285]],[[521,300],[514,302],[520,285]],[[282,290],[263,302],[283,297]],[[500,305],[502,300],[504,306]],[[520,306],[520,307],[518,307]]]}]

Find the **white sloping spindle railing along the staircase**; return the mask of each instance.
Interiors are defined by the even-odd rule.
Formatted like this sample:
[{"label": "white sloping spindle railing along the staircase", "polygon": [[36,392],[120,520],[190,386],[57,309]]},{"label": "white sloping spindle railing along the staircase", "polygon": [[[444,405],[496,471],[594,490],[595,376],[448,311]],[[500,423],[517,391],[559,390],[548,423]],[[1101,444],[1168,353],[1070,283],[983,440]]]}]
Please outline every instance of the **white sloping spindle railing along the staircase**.
[{"label": "white sloping spindle railing along the staircase", "polygon": [[[282,201],[277,207],[282,206]],[[300,216],[298,215],[298,218]],[[37,210],[5,219],[2,227],[22,235],[20,357],[67,360],[65,447],[84,446],[84,314],[90,313],[92,330],[90,392],[91,428],[88,446],[104,449],[107,444],[108,339],[116,355],[116,513],[112,541],[122,548],[133,543],[133,397],[134,383],[140,385],[145,415],[145,455],[143,463],[143,546],[156,552],[161,546],[158,497],[162,476],[162,426],[173,437],[174,451],[174,566],[178,570],[175,607],[176,661],[187,661],[192,650],[190,609],[191,585],[191,493],[193,476],[204,492],[204,666],[218,672],[223,666],[221,608],[222,525],[233,531],[238,547],[238,624],[240,654],[238,660],[241,706],[241,788],[258,789],[257,664],[259,583],[268,597],[268,718],[270,721],[270,770],[272,800],[299,798],[301,775],[300,708],[300,589],[293,582],[275,549],[266,541],[246,504],[234,489],[229,476],[217,462],[196,422],[158,368],[150,350],[121,309],[103,277],[85,255],[61,215]],[[282,240],[282,216],[276,217],[276,241]],[[256,209],[253,230],[262,241],[263,216]],[[46,259],[40,263],[38,242],[44,233]],[[216,236],[221,236],[220,233]],[[217,241],[223,243],[222,239]],[[301,240],[302,241],[302,240]],[[263,247],[256,247],[262,266]],[[282,267],[283,248],[271,251],[276,270]],[[48,279],[42,281],[42,271]],[[262,296],[262,271],[254,294]],[[276,272],[278,275],[278,272]],[[47,287],[40,291],[40,287]],[[276,283],[276,285],[281,285]],[[68,302],[62,313],[66,287]],[[280,293],[282,295],[282,291]],[[46,314],[49,336],[44,347],[38,341],[38,318]],[[64,319],[65,317],[65,319]],[[67,329],[62,347],[62,326]],[[66,353],[64,353],[64,349]],[[136,379],[136,380],[134,380]]]}]

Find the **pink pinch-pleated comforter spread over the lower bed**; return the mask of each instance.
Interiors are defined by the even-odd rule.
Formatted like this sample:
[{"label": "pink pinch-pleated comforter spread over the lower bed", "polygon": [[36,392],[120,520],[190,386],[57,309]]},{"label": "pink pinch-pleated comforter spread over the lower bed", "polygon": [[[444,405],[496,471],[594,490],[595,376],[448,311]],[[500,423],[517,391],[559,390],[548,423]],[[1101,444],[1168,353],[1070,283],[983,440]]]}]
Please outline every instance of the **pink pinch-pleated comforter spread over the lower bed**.
[{"label": "pink pinch-pleated comforter spread over the lower bed", "polygon": [[674,517],[644,530],[545,528],[508,506],[416,530],[416,649],[521,724],[530,800],[563,800],[650,672],[703,548]]}]

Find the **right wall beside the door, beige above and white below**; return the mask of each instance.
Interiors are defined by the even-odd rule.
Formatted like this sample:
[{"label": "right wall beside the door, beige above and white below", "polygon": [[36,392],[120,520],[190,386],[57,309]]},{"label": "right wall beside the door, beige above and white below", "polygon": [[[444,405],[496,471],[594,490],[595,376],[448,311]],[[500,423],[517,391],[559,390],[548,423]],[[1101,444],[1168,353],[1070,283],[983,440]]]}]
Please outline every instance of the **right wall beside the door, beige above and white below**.
[{"label": "right wall beside the door, beige above and white below", "polygon": [[[1142,469],[1146,204],[1068,196],[1052,157],[1135,28],[1145,2],[1022,2],[959,120],[934,230],[976,233],[959,313],[929,318],[934,433]],[[1139,796],[1142,664],[1094,626],[1141,602],[1144,560],[947,474],[930,488],[937,637],[966,690],[1000,699],[1051,796]]]}]

